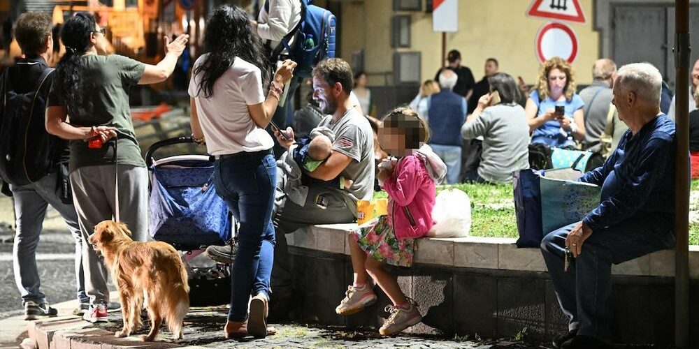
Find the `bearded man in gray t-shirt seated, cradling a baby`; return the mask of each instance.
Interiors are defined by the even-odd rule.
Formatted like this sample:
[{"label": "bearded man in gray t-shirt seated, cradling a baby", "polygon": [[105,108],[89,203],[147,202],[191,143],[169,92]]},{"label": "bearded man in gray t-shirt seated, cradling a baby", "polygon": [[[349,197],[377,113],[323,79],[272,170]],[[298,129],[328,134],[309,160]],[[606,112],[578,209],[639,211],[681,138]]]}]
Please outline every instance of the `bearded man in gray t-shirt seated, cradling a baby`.
[{"label": "bearded man in gray t-shirt seated, cradling a baby", "polygon": [[[270,317],[274,320],[287,316],[296,302],[284,234],[305,225],[353,222],[356,219],[356,200],[369,200],[373,194],[374,134],[366,117],[349,101],[352,83],[352,69],[342,59],[326,59],[313,70],[313,99],[328,115],[318,126],[331,128],[336,138],[331,156],[313,172],[308,172],[308,177],[329,181],[341,174],[354,183],[346,191],[309,183],[305,205],[285,200],[283,194],[278,197],[272,217],[277,239],[272,268],[274,295],[270,302]],[[290,141],[275,133],[277,140],[287,149],[293,143],[294,135],[290,131],[287,130]]]}]

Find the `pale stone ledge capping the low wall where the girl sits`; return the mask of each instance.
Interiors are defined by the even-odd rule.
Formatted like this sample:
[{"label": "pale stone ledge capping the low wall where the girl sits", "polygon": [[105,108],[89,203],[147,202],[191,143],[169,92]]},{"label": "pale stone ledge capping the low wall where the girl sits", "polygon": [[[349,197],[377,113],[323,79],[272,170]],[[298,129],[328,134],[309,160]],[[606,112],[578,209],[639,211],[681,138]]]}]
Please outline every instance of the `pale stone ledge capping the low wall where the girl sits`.
[{"label": "pale stone ledge capping the low wall where the girl sits", "polygon": [[[312,225],[287,235],[289,246],[349,255],[347,232],[356,223]],[[503,237],[424,238],[417,241],[415,262],[447,267],[546,272],[538,248],[517,248],[517,239]],[[689,246],[689,273],[699,279],[699,246]],[[612,274],[675,276],[675,252],[657,251],[612,266]]]}]

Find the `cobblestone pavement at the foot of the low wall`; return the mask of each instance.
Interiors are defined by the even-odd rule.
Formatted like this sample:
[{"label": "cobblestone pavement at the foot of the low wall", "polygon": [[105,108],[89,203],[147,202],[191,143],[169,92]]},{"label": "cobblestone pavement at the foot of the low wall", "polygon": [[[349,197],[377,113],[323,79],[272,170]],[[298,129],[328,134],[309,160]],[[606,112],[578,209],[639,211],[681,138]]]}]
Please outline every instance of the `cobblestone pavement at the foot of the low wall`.
[{"label": "cobblestone pavement at the foot of the low wall", "polygon": [[[346,329],[345,327],[315,327],[300,324],[272,324],[277,333],[266,339],[223,339],[222,328],[226,322],[228,309],[222,307],[192,308],[185,318],[185,339],[178,344],[203,346],[206,348],[547,348],[527,346],[514,341],[469,341],[468,338],[447,338],[443,336],[415,336],[401,334],[384,338],[375,329]],[[98,327],[108,331],[121,329],[120,313],[110,314],[110,322]],[[136,334],[146,334],[144,325]],[[134,336],[134,334],[132,334]],[[159,339],[172,341],[170,333],[163,327]]]}]

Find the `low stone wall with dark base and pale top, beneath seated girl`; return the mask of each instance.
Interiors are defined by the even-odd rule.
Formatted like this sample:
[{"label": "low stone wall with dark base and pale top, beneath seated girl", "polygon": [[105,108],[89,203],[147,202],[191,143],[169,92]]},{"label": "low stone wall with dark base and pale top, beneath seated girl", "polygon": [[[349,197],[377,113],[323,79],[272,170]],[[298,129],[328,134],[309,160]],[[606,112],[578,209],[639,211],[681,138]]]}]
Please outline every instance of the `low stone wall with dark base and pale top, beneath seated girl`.
[{"label": "low stone wall with dark base and pale top, beneath seated girl", "polygon": [[[390,304],[380,288],[375,288],[379,301],[370,309],[347,317],[335,313],[352,283],[352,264],[343,244],[346,229],[321,226],[287,235],[296,288],[302,296],[299,315],[304,322],[377,327],[387,318],[383,309]],[[526,327],[533,339],[550,339],[565,332],[567,319],[543,262],[537,261],[538,249],[517,249],[512,241],[505,244],[508,239],[500,239],[500,244],[494,244],[495,251],[487,253],[493,244],[471,246],[474,239],[450,241],[451,248],[463,250],[461,256],[449,251],[444,240],[421,239],[412,268],[390,267],[424,316],[423,323],[410,332],[501,338],[516,336]],[[691,255],[696,261],[697,253]],[[446,265],[449,256],[452,263]],[[455,258],[471,262],[458,266]],[[661,251],[614,267],[617,318],[613,331],[617,341],[672,343],[674,281],[670,276],[652,274],[669,272],[668,264],[673,260],[672,251]],[[691,286],[691,333],[699,333],[699,280],[693,279]]]}]

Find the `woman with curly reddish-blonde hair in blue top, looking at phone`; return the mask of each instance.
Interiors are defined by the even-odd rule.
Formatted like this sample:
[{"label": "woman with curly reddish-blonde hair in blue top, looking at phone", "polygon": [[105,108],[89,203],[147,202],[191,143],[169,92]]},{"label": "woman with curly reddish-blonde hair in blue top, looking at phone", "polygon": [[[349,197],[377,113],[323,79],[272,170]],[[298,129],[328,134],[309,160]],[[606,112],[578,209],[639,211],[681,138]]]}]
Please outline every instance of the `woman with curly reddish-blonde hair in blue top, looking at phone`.
[{"label": "woman with curly reddish-blonde hair in blue top, looking at phone", "polygon": [[539,71],[539,86],[531,91],[524,112],[532,143],[576,149],[585,136],[582,98],[575,94],[575,74],[567,61],[554,57]]}]

